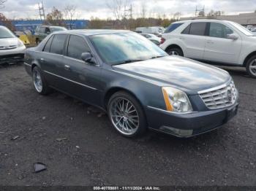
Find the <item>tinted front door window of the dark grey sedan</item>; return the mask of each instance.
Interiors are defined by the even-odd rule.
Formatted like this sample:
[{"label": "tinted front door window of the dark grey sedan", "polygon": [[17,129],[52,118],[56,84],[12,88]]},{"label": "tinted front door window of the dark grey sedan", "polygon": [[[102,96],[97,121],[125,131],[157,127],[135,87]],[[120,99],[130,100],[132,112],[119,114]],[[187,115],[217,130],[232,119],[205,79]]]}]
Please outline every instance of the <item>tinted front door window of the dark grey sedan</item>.
[{"label": "tinted front door window of the dark grey sedan", "polygon": [[83,52],[91,52],[89,45],[82,37],[71,35],[67,47],[67,56],[81,60]]}]

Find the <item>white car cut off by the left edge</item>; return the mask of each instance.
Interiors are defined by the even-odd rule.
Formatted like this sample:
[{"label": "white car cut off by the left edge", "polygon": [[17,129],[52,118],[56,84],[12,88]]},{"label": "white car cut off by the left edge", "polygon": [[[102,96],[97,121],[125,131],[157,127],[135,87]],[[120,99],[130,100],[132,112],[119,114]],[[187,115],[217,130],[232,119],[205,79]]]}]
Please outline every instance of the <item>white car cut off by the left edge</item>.
[{"label": "white car cut off by the left edge", "polygon": [[8,28],[0,26],[0,64],[23,62],[25,45]]}]

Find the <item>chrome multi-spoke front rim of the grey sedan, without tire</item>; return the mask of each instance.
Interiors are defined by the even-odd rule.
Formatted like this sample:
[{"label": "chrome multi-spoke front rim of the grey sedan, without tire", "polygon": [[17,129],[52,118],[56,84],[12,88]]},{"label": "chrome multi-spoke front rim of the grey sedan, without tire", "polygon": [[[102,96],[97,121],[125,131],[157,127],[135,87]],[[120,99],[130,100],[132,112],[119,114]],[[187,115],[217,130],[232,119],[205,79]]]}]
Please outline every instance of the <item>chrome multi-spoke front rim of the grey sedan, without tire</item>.
[{"label": "chrome multi-spoke front rim of the grey sedan, without tire", "polygon": [[140,117],[135,106],[127,98],[115,98],[109,109],[110,120],[114,127],[122,134],[135,134],[140,125]]}]

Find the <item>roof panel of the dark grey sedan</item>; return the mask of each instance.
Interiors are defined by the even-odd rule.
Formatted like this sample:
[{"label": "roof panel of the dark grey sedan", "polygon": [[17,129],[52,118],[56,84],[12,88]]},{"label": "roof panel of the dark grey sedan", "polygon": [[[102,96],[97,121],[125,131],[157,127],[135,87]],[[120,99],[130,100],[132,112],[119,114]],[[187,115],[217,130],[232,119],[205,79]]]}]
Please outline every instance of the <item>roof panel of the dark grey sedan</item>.
[{"label": "roof panel of the dark grey sedan", "polygon": [[84,36],[92,36],[97,34],[124,34],[124,33],[135,33],[126,30],[102,30],[102,29],[82,29],[82,30],[68,30],[68,31],[58,31],[54,34],[80,34]]}]

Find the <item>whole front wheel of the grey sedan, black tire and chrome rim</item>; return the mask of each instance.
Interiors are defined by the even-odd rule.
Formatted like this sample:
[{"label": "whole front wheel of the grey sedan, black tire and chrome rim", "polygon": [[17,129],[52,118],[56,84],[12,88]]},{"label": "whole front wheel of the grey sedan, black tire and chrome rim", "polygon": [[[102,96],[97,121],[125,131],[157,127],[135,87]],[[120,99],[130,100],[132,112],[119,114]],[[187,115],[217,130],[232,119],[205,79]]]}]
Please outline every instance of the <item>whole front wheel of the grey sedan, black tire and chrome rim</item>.
[{"label": "whole front wheel of the grey sedan, black tire and chrome rim", "polygon": [[146,117],[137,99],[120,91],[108,102],[108,116],[113,127],[122,136],[132,138],[146,132]]}]

